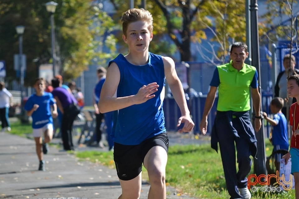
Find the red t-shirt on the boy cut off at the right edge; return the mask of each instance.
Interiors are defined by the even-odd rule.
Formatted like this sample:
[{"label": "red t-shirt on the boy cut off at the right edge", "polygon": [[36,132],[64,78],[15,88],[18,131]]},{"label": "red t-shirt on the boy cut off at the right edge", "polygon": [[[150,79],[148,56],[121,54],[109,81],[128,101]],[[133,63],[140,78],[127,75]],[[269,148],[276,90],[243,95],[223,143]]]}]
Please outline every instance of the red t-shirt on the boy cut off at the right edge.
[{"label": "red t-shirt on the boy cut off at the right edge", "polygon": [[294,131],[299,129],[299,105],[296,103],[292,104],[290,108],[290,125],[292,127],[292,138],[291,138],[291,148],[299,149],[299,135],[294,136]]}]

